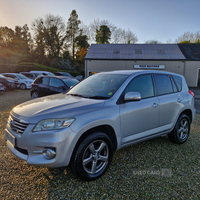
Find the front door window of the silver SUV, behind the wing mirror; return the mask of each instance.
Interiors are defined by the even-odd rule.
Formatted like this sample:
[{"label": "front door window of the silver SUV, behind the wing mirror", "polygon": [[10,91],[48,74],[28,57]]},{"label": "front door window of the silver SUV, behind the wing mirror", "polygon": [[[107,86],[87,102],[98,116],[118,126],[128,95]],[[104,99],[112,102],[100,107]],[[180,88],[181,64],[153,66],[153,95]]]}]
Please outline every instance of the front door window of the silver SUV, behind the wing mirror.
[{"label": "front door window of the silver SUV, behind the wing mirror", "polygon": [[128,92],[139,92],[142,99],[153,97],[154,89],[151,75],[142,75],[134,78],[125,89],[125,94]]}]

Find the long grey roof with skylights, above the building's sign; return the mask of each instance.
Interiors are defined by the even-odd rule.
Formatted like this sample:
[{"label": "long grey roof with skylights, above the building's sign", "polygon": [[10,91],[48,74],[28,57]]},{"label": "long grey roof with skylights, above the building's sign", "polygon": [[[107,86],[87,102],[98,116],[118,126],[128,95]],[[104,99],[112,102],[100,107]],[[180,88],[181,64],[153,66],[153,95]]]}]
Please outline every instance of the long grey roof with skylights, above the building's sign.
[{"label": "long grey roof with skylights, above the building's sign", "polygon": [[92,44],[86,60],[185,60],[177,44]]}]

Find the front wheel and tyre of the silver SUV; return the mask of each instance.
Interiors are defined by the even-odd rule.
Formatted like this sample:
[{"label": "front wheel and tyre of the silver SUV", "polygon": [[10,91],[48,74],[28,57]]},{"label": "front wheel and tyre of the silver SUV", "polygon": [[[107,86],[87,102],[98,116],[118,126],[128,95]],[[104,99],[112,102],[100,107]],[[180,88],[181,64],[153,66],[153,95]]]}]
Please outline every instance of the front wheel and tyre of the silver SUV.
[{"label": "front wheel and tyre of the silver SUV", "polygon": [[113,157],[112,142],[103,132],[87,136],[72,155],[70,169],[82,180],[91,181],[102,176]]}]

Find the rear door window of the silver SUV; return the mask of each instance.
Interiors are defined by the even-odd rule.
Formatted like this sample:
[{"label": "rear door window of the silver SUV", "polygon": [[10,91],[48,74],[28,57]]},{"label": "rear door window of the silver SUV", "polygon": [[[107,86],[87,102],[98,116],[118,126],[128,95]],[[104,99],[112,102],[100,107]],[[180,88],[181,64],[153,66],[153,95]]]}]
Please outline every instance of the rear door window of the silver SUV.
[{"label": "rear door window of the silver SUV", "polygon": [[173,93],[172,83],[170,76],[155,74],[156,88],[158,95]]}]

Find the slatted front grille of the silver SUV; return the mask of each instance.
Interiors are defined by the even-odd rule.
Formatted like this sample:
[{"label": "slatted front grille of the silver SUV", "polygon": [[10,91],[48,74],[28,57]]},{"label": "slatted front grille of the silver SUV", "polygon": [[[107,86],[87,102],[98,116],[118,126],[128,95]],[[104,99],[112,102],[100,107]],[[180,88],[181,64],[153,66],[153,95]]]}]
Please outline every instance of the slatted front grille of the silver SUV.
[{"label": "slatted front grille of the silver SUV", "polygon": [[10,125],[10,127],[13,131],[15,131],[19,134],[23,134],[26,127],[29,125],[28,122],[13,118],[11,115],[8,118],[8,124]]}]

